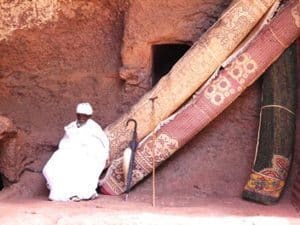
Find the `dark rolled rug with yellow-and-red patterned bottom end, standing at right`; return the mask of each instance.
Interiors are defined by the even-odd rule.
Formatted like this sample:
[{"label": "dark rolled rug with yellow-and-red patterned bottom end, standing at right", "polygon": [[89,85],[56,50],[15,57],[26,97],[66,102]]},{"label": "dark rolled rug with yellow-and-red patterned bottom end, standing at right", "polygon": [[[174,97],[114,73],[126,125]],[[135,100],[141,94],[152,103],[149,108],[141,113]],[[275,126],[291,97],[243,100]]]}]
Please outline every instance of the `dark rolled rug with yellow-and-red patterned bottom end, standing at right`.
[{"label": "dark rolled rug with yellow-and-red patterned bottom end, standing at right", "polygon": [[284,189],[295,142],[296,61],[292,45],[264,75],[256,154],[242,194],[247,200],[276,203]]}]

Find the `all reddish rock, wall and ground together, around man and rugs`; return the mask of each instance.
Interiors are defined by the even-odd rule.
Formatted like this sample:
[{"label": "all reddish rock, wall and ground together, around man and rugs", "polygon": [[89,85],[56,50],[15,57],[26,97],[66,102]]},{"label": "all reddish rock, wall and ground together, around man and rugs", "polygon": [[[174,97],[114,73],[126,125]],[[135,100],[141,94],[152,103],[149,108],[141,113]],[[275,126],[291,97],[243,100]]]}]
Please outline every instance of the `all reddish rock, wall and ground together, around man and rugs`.
[{"label": "all reddish rock, wall and ground together, around man and rugs", "polygon": [[[41,169],[63,126],[74,120],[76,104],[91,102],[94,119],[107,126],[151,88],[151,45],[141,43],[191,44],[229,3],[160,1],[155,8],[150,0],[35,5],[27,0],[0,5],[0,115],[11,123],[6,130],[14,130],[5,140],[0,133],[5,186],[0,224],[299,224],[290,198],[296,163],[279,204],[240,198],[254,159],[260,81],[158,168],[155,208],[151,176],[127,202],[120,196],[47,201]],[[139,72],[142,82],[121,79],[128,71]],[[299,134],[298,129],[294,161],[299,161]]]}]

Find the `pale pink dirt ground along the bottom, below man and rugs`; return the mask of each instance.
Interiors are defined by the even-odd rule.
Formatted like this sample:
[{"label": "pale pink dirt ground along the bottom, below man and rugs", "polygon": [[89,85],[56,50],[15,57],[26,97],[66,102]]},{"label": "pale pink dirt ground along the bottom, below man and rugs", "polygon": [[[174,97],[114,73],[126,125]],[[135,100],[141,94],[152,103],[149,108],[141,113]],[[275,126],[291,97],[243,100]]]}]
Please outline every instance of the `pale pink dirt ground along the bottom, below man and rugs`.
[{"label": "pale pink dirt ground along the bottom, below man and rugs", "polygon": [[288,197],[264,206],[240,198],[160,196],[152,192],[123,196],[100,195],[83,202],[51,202],[46,196],[10,199],[0,203],[1,225],[298,225],[300,214]]}]

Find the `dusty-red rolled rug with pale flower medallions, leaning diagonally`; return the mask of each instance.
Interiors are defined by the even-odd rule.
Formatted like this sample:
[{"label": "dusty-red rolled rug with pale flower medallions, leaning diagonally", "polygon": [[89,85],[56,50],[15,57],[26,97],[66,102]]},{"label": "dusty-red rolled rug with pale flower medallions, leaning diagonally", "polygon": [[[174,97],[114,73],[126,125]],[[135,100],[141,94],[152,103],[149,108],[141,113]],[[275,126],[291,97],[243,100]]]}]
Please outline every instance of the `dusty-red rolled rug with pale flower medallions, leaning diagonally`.
[{"label": "dusty-red rolled rug with pale flower medallions, leaning diagonally", "polygon": [[[132,186],[152,172],[153,150],[155,165],[159,166],[237,99],[293,43],[300,34],[300,16],[295,13],[299,5],[299,0],[289,1],[231,64],[139,143]],[[122,157],[112,161],[102,183],[103,193],[124,192],[122,161]]]}]

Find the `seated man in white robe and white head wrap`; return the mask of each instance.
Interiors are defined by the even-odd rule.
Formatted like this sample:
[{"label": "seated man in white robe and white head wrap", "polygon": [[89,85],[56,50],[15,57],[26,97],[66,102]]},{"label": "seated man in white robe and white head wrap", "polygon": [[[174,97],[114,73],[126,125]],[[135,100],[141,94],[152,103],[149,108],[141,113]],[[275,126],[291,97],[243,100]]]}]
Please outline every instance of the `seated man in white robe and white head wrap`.
[{"label": "seated man in white robe and white head wrap", "polygon": [[109,141],[91,119],[89,103],[77,105],[77,120],[67,125],[58,150],[46,163],[43,174],[54,201],[80,201],[97,197],[98,179],[109,155]]}]

